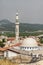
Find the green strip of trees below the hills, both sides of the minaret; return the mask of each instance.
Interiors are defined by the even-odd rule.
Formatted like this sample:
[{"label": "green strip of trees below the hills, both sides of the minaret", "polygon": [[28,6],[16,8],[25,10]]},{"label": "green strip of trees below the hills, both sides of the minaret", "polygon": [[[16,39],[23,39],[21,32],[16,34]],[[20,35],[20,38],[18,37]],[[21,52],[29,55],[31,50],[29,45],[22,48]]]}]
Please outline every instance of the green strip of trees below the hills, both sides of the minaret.
[{"label": "green strip of trees below the hills, both sides of the minaret", "polygon": [[[20,36],[38,36],[43,34],[43,32],[20,32]],[[3,34],[1,33],[0,35],[8,36],[8,37],[15,37],[15,32],[4,32]]]}]

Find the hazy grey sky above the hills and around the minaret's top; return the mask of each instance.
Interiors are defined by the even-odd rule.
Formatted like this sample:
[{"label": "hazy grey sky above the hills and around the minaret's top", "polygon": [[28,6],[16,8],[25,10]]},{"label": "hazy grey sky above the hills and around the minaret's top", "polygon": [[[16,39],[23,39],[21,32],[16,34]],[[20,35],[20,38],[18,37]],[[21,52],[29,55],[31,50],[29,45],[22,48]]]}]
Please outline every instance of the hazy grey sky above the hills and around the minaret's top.
[{"label": "hazy grey sky above the hills and around the minaret's top", "polygon": [[21,23],[43,23],[43,0],[0,0],[0,20],[15,22],[17,9]]}]

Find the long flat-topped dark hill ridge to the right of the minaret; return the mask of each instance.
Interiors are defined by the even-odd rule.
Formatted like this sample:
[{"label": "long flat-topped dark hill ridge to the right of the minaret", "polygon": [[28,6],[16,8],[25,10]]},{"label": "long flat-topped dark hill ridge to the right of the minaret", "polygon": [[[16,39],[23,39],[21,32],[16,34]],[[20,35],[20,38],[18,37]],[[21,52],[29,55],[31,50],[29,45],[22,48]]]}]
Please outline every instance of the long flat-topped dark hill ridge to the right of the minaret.
[{"label": "long flat-topped dark hill ridge to the right of the minaret", "polygon": [[20,30],[22,31],[38,31],[43,30],[43,24],[28,24],[28,23],[21,23]]}]

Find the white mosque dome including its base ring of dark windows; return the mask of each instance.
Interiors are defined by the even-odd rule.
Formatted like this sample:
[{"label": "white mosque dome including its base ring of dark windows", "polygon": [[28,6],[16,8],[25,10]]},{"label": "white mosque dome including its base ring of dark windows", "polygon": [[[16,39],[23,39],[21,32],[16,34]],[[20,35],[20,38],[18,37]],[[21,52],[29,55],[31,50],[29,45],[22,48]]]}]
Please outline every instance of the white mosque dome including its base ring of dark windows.
[{"label": "white mosque dome including its base ring of dark windows", "polygon": [[33,38],[26,38],[23,40],[22,45],[20,46],[20,48],[22,50],[38,50],[38,45],[37,45],[37,41]]}]

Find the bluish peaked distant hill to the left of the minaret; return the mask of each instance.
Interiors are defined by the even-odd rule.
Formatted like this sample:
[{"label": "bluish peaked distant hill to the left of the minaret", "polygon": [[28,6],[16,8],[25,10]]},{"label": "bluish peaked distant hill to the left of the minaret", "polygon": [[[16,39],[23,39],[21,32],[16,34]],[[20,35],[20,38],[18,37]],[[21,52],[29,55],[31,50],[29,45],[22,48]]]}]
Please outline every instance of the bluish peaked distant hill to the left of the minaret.
[{"label": "bluish peaked distant hill to the left of the minaret", "polygon": [[15,24],[9,20],[0,21],[0,31],[14,31]]}]

